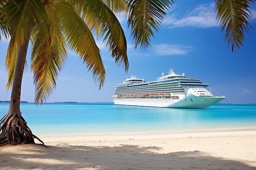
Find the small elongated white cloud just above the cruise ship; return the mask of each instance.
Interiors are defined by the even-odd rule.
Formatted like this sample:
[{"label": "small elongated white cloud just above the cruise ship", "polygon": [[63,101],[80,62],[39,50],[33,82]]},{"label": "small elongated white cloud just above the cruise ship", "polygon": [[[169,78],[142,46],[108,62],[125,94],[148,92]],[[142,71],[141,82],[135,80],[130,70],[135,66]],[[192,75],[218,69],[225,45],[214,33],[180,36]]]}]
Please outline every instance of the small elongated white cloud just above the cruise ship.
[{"label": "small elongated white cloud just above the cruise ship", "polygon": [[192,50],[191,46],[173,44],[153,44],[152,47],[158,55],[184,55]]}]

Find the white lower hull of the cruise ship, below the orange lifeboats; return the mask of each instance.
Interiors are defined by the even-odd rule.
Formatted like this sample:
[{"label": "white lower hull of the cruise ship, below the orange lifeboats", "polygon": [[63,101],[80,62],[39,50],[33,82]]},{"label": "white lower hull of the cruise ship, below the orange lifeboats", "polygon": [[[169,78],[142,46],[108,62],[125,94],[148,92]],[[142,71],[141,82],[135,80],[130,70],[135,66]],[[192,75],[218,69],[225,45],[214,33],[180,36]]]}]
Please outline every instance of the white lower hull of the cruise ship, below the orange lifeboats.
[{"label": "white lower hull of the cruise ship, below the orange lifeboats", "polygon": [[206,109],[209,106],[220,102],[225,97],[198,97],[190,96],[180,99],[166,99],[166,98],[133,98],[133,99],[113,99],[114,104],[129,105],[129,106],[149,106],[149,107],[163,107],[163,108],[199,108]]}]

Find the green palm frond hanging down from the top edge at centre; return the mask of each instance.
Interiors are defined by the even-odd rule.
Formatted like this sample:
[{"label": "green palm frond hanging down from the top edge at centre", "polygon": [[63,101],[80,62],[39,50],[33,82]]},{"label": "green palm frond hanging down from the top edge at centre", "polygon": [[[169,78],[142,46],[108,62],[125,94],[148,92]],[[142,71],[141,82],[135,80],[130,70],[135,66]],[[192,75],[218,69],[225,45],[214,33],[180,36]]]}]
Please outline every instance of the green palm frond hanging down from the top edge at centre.
[{"label": "green palm frond hanging down from the top edge at centre", "polygon": [[150,46],[150,37],[158,31],[165,10],[172,5],[169,0],[130,0],[128,27],[135,41],[135,48],[140,45],[145,49]]}]

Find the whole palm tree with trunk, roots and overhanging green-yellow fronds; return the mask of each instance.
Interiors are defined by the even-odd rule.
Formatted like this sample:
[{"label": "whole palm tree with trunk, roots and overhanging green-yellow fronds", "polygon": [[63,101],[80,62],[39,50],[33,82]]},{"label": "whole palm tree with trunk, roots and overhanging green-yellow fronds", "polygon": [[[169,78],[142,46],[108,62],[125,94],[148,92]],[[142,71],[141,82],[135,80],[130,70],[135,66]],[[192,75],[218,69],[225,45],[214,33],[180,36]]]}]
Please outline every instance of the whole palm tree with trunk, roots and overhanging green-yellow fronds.
[{"label": "whole palm tree with trunk, roots and overhanging green-yellow fronds", "polygon": [[58,71],[67,58],[67,46],[86,63],[101,88],[106,72],[93,34],[103,38],[116,64],[127,71],[126,38],[115,13],[129,13],[135,47],[144,48],[150,44],[153,30],[158,30],[169,5],[169,0],[1,0],[0,28],[6,38],[11,37],[5,64],[9,71],[7,88],[12,88],[12,93],[9,111],[0,120],[0,146],[34,144],[34,139],[38,139],[20,112],[29,41],[38,104],[45,102],[55,88]]}]

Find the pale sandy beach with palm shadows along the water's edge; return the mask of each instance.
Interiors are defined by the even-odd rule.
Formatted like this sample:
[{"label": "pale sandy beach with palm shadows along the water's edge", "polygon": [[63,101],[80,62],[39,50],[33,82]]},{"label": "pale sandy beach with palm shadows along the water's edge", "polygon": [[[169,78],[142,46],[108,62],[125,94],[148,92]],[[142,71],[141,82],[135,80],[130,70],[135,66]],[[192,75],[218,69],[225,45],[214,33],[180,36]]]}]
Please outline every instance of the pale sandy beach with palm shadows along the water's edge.
[{"label": "pale sandy beach with palm shadows along the water's edge", "polygon": [[0,170],[256,170],[256,127],[40,139],[0,147]]}]

